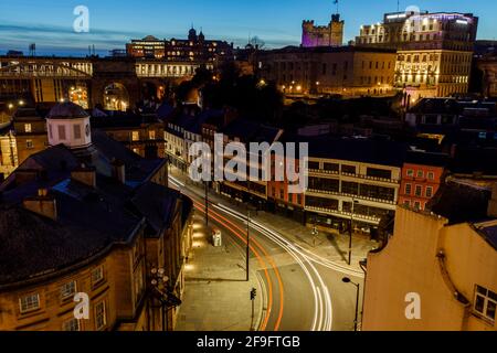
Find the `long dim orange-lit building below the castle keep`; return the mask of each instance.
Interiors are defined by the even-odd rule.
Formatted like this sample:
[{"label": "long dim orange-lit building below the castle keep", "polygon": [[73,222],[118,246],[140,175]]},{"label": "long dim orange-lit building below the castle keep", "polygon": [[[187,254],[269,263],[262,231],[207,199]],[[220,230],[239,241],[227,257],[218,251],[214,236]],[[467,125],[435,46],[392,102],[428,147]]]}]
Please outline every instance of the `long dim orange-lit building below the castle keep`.
[{"label": "long dim orange-lit building below the castle keep", "polygon": [[262,77],[285,94],[393,94],[395,52],[385,49],[295,47],[261,55]]}]

